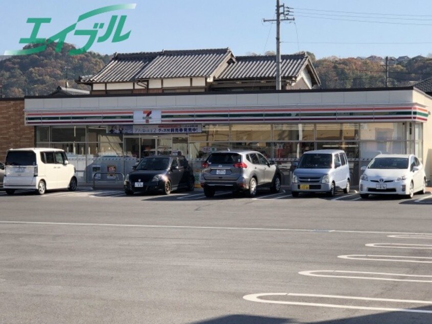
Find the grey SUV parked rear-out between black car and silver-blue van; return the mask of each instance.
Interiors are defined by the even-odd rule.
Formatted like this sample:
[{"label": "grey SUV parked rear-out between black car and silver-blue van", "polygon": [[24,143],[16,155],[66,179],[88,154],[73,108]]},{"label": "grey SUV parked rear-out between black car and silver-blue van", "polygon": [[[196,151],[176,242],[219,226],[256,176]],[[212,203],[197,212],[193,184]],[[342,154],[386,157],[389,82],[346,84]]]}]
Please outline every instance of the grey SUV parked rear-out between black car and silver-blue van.
[{"label": "grey SUV parked rear-out between black car and silver-blue van", "polygon": [[280,190],[279,168],[257,151],[214,152],[202,167],[200,182],[206,197],[213,197],[217,190],[246,191],[249,197],[255,197],[261,186],[275,193]]}]

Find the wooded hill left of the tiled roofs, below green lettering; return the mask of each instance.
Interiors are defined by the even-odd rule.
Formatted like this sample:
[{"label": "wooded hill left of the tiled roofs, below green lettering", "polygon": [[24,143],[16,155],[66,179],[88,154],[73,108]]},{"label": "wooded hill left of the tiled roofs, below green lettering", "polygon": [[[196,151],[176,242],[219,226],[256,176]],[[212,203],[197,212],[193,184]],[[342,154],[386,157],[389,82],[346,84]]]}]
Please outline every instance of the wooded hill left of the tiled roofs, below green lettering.
[{"label": "wooded hill left of the tiled roofs, below green lettering", "polygon": [[[29,47],[32,45],[25,48]],[[110,56],[94,52],[68,55],[69,50],[75,49],[68,43],[64,43],[61,53],[57,53],[55,47],[56,43],[51,43],[43,52],[12,56],[0,61],[3,97],[49,95],[59,85],[65,86],[66,81],[70,87],[88,90],[88,87],[77,85],[74,80],[80,75],[98,72],[110,60]]]}]

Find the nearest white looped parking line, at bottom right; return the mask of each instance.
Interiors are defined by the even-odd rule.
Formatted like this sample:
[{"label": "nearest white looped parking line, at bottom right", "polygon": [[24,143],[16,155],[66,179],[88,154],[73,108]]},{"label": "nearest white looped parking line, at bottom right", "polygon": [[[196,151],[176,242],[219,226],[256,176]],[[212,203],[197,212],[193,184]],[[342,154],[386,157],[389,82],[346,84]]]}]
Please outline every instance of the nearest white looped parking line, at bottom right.
[{"label": "nearest white looped parking line, at bottom right", "polygon": [[432,314],[430,310],[409,309],[409,308],[387,308],[387,307],[366,307],[366,306],[351,306],[339,304],[322,304],[322,303],[305,303],[305,302],[288,302],[285,300],[266,300],[260,297],[264,296],[299,296],[299,297],[320,297],[320,298],[338,298],[338,299],[354,299],[354,300],[370,300],[373,302],[386,302],[386,303],[406,303],[406,304],[419,304],[430,305],[432,302],[428,300],[410,300],[410,299],[389,299],[389,298],[370,298],[370,297],[356,297],[356,296],[341,296],[341,295],[318,295],[318,294],[298,294],[298,293],[260,293],[250,294],[243,296],[243,299],[249,302],[268,303],[268,304],[282,304],[282,305],[298,305],[298,306],[314,306],[314,307],[328,307],[328,308],[342,308],[342,309],[359,309],[359,310],[374,310],[374,311],[388,311],[388,312],[407,312],[407,313],[426,313]]}]

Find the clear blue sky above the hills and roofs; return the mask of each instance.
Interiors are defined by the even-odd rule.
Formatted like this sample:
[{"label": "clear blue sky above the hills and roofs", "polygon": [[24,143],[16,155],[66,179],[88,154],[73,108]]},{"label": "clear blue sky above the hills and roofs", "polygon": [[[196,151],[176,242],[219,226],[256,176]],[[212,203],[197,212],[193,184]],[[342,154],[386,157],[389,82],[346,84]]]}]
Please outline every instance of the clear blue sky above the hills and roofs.
[{"label": "clear blue sky above the hills and roofs", "polygon": [[[92,29],[113,14],[127,15],[123,32],[129,39],[94,43],[102,54],[229,47],[234,55],[275,51],[276,0],[4,0],[0,4],[0,55],[21,49],[29,37],[29,17],[50,17],[38,37],[50,37],[74,24],[79,15],[108,5],[136,3],[133,10],[86,19],[77,29]],[[317,58],[357,56],[428,56],[432,53],[432,1],[400,0],[280,0],[294,8],[295,24],[281,24],[281,52],[309,51]],[[367,22],[364,22],[367,21]],[[102,35],[103,29],[100,34]],[[85,36],[66,41],[82,47]]]}]

